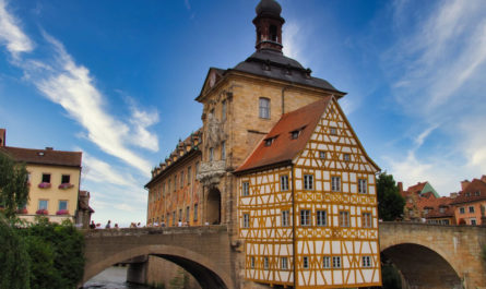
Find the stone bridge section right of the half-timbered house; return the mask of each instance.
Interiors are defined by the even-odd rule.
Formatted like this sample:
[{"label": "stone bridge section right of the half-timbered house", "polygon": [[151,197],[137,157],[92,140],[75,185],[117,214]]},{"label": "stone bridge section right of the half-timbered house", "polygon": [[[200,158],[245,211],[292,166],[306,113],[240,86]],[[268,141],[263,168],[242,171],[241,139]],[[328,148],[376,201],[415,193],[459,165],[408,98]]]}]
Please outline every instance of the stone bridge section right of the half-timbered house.
[{"label": "stone bridge section right of the half-timbered house", "polygon": [[382,258],[408,288],[486,288],[483,245],[486,227],[380,222]]}]

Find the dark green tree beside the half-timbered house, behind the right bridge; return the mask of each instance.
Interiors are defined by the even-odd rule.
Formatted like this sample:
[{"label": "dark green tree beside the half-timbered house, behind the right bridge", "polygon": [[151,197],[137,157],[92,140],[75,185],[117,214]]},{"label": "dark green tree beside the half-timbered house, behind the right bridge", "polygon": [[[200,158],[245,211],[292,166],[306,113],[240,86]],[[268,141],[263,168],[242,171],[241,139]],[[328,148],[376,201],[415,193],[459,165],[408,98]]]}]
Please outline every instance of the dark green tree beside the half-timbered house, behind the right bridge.
[{"label": "dark green tree beside the half-timbered house, behind the right bridge", "polygon": [[395,220],[403,214],[405,200],[400,195],[392,174],[380,173],[377,180],[378,216],[382,220]]}]

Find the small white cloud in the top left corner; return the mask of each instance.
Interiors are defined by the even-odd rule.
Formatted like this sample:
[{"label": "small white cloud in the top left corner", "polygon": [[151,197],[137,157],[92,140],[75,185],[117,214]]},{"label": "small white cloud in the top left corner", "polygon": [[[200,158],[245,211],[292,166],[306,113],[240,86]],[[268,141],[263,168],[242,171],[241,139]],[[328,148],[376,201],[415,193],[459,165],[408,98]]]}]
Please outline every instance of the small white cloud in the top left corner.
[{"label": "small white cloud in the top left corner", "polygon": [[32,40],[19,27],[19,21],[7,12],[5,0],[0,0],[0,44],[5,44],[13,58],[34,49]]}]

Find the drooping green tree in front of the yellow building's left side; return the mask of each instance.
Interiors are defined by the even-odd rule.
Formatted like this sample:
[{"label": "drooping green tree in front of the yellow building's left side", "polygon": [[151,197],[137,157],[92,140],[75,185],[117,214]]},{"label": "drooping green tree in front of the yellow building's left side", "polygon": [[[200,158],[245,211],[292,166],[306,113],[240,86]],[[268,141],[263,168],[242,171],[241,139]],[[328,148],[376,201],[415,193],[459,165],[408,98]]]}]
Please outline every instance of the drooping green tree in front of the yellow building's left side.
[{"label": "drooping green tree in front of the yellow building's left side", "polygon": [[28,201],[27,170],[0,150],[0,206],[8,218]]}]

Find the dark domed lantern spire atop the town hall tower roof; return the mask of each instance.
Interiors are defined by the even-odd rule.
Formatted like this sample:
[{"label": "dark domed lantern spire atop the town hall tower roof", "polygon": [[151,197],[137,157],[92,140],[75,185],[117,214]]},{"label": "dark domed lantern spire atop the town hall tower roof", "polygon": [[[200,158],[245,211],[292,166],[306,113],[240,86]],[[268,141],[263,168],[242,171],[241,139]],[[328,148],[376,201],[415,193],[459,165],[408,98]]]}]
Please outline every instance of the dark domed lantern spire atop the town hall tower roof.
[{"label": "dark domed lantern spire atop the town hall tower roof", "polygon": [[282,53],[282,25],[285,20],[280,15],[282,7],[275,0],[261,0],[254,9],[257,16],[257,50],[271,49]]}]

